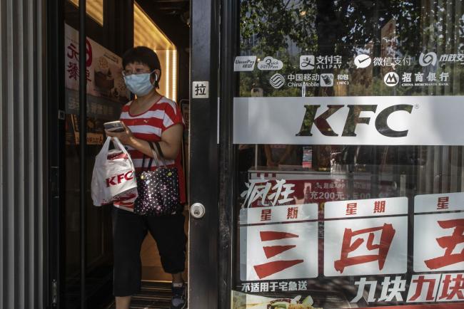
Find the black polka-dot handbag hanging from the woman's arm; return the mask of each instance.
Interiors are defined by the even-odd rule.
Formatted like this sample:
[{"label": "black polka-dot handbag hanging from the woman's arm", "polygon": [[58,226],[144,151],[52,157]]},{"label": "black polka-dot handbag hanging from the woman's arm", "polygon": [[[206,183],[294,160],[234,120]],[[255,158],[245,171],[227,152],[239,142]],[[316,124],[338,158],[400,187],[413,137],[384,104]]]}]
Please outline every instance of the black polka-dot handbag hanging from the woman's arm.
[{"label": "black polka-dot handbag hanging from the woman's arm", "polygon": [[[148,142],[156,160],[155,170],[151,170],[153,158],[150,158],[148,167],[145,168],[143,155],[143,171],[137,177],[138,198],[135,201],[133,212],[145,216],[166,216],[176,214],[179,209],[178,173],[176,167],[168,167],[153,142]],[[161,166],[159,162],[162,162]]]}]

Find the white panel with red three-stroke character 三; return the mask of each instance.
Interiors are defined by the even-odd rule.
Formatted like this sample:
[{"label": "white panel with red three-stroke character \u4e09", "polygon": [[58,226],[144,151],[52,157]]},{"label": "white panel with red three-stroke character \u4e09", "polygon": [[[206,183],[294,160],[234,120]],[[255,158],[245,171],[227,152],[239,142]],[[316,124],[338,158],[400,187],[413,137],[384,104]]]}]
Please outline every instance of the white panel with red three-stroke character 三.
[{"label": "white panel with red three-stroke character \u4e09", "polygon": [[241,281],[318,276],[318,222],[240,228]]}]

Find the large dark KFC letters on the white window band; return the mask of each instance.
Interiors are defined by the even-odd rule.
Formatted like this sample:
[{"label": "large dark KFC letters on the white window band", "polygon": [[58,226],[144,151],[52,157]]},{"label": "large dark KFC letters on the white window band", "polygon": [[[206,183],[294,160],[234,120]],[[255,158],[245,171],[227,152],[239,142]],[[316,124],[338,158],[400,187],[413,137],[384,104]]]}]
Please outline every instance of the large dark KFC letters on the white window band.
[{"label": "large dark KFC letters on the white window band", "polygon": [[[375,112],[377,112],[377,106],[378,105],[346,105],[346,108],[348,108],[348,117],[346,117],[341,136],[356,136],[355,130],[357,125],[368,125],[370,122],[370,117],[360,117],[360,112],[373,112],[375,114]],[[316,117],[316,113],[318,109],[321,108],[321,105],[305,105],[306,112],[303,117],[303,122],[301,123],[301,130],[296,136],[313,136],[311,133],[313,125],[318,128],[322,135],[340,136],[333,130],[333,127],[331,127],[328,122],[328,118],[344,107],[345,105],[327,105],[327,110]],[[393,112],[400,111],[411,113],[413,111],[413,105],[392,105],[378,112],[378,115],[375,116],[375,129],[377,132],[386,137],[407,136],[408,130],[397,131],[388,126],[388,117],[390,117]]]}]

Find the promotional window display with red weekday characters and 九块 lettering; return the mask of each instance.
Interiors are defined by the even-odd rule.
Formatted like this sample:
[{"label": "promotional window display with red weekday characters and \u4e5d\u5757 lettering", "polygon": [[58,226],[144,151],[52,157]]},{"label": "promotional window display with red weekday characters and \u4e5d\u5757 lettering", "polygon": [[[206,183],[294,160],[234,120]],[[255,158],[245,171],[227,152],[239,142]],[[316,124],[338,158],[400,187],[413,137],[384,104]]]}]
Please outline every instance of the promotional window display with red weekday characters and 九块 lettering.
[{"label": "promotional window display with red weekday characters and \u4e5d\u5757 lettering", "polygon": [[321,216],[292,182],[258,180],[233,308],[464,308],[464,193],[326,201]]}]

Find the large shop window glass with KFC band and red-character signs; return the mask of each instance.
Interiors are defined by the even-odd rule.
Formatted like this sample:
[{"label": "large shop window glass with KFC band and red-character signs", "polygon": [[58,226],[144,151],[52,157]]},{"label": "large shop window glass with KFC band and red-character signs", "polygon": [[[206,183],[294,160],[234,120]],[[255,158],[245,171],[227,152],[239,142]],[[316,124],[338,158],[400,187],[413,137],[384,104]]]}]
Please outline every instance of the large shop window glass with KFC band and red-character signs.
[{"label": "large shop window glass with KFC band and red-character signs", "polygon": [[458,308],[461,1],[240,10],[232,307]]}]

